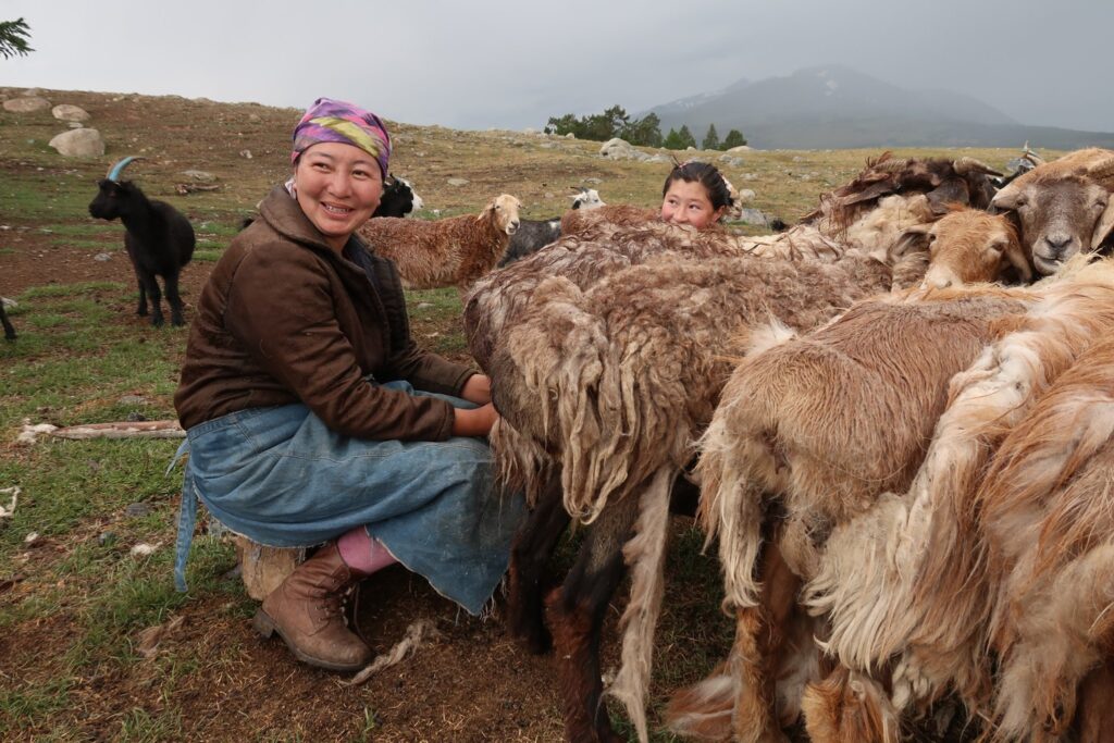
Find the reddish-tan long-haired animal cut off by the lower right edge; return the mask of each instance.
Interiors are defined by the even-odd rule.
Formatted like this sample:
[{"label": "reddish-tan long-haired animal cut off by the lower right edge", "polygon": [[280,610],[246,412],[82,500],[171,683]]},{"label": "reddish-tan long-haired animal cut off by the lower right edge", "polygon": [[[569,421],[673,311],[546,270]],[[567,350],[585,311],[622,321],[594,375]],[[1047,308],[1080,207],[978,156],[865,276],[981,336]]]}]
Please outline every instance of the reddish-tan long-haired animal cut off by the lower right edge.
[{"label": "reddish-tan long-haired animal cut off by the lower right edge", "polygon": [[[1005,740],[1114,737],[1114,341],[1014,427],[980,493]],[[1082,698],[1081,698],[1082,697]],[[1074,721],[1074,725],[1073,725]]]}]

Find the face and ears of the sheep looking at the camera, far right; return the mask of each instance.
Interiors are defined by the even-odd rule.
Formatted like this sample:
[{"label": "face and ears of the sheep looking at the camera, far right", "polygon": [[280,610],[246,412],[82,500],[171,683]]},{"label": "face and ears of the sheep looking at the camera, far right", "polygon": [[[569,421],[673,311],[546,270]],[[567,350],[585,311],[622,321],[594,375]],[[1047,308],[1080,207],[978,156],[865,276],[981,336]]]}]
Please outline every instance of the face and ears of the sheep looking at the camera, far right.
[{"label": "face and ears of the sheep looking at the camera, far right", "polygon": [[1003,188],[993,205],[1016,212],[1025,250],[1044,275],[1056,273],[1081,251],[1096,250],[1114,227],[1114,199],[1081,175],[1018,180]]}]

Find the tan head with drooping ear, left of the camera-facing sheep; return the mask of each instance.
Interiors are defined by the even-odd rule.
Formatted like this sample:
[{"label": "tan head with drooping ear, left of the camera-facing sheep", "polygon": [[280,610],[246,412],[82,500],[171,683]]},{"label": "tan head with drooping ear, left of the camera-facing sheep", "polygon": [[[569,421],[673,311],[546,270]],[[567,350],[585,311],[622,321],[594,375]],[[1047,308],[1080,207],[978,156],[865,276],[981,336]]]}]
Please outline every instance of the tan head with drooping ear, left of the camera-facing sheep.
[{"label": "tan head with drooping ear, left of the camera-facing sheep", "polygon": [[1005,215],[960,209],[926,228],[929,267],[921,286],[946,289],[996,280],[1008,264],[1033,277],[1017,231]]}]

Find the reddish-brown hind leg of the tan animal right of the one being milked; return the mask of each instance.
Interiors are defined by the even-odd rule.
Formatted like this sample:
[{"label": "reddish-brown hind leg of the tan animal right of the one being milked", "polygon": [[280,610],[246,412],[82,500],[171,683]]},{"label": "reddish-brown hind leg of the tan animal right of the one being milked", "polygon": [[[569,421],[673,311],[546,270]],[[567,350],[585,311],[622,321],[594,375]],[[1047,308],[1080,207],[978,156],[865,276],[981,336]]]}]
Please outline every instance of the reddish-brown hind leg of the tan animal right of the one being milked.
[{"label": "reddish-brown hind leg of the tan animal right of the one being milked", "polygon": [[775,707],[779,653],[797,609],[801,579],[782,557],[776,542],[765,545],[762,555],[762,604],[741,608],[735,615],[735,644],[731,649],[735,688],[735,741],[783,743]]}]

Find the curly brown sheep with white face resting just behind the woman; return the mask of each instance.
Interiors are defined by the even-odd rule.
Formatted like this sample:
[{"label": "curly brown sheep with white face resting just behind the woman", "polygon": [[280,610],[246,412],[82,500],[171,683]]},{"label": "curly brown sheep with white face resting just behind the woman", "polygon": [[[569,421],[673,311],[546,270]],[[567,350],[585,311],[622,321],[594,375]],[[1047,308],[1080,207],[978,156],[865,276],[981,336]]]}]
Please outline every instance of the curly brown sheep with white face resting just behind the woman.
[{"label": "curly brown sheep with white face resting just behind the woman", "polygon": [[369,219],[358,234],[368,248],[395,263],[410,289],[463,289],[489,272],[518,229],[521,205],[509,194],[488,202],[479,216],[426,222]]}]

